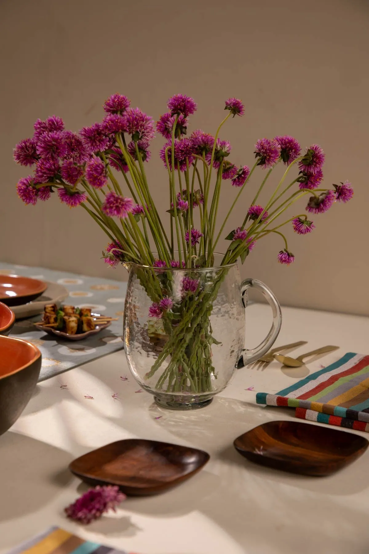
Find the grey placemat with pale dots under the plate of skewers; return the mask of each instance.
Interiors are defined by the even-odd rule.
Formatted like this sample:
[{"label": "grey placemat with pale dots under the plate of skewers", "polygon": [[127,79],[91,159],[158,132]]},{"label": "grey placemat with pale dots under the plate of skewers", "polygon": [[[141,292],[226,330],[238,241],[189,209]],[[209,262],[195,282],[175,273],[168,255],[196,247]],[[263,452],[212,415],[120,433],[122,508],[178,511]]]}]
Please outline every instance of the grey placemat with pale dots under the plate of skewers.
[{"label": "grey placemat with pale dots under the plate of skewers", "polygon": [[[41,351],[42,366],[39,381],[123,348],[123,309],[127,283],[4,262],[0,262],[0,273],[24,275],[59,283],[70,291],[69,296],[64,300],[65,304],[89,306],[98,314],[118,317],[118,321],[112,321],[107,329],[81,341],[69,341],[37,330],[33,322],[40,320],[39,315],[15,322],[10,336],[24,338]],[[118,275],[118,271],[116,273]],[[123,276],[123,273],[119,271],[119,275]]]}]

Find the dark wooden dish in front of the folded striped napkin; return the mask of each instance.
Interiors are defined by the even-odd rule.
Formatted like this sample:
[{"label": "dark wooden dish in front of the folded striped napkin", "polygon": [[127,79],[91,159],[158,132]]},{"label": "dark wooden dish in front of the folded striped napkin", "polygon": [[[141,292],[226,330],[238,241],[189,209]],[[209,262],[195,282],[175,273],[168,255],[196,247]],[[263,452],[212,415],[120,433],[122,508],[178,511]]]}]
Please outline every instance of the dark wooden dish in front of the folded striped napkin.
[{"label": "dark wooden dish in front of the folded striped napkin", "polygon": [[238,437],[237,452],[257,464],[302,475],[331,475],[351,464],[368,441],[337,429],[295,421],[263,423]]}]

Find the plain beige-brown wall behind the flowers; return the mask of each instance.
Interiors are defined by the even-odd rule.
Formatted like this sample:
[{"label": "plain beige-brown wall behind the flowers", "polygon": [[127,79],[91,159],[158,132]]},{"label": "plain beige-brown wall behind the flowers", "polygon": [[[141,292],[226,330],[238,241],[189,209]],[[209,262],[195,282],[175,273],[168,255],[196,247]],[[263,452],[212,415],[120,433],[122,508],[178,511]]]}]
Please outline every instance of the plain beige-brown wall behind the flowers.
[{"label": "plain beige-brown wall behind the flowers", "polygon": [[[37,117],[56,114],[78,130],[100,121],[102,102],[119,92],[157,119],[168,97],[183,92],[199,106],[189,129],[214,133],[224,100],[237,96],[246,116],[221,134],[233,162],[251,165],[258,138],[292,134],[303,147],[324,148],[326,182],[350,179],[355,187],[349,204],[314,218],[310,235],[287,232],[292,266],[277,263],[276,236],[258,244],[243,276],[266,282],[285,305],[369,315],[368,23],[363,0],[2,0],[0,259],[127,278],[100,259],[105,235],[81,208],[57,198],[24,206],[17,198],[15,183],[27,169],[15,165],[12,148],[32,135]],[[162,144],[157,137],[148,172],[164,212]],[[228,231],[242,221],[262,175]]]}]

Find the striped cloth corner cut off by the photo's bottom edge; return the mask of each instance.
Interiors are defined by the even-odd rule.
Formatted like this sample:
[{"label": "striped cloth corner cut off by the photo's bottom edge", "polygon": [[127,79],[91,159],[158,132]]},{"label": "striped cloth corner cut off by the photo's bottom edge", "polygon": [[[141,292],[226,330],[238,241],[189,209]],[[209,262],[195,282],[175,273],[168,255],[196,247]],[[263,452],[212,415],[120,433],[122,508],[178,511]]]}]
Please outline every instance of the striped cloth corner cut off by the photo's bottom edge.
[{"label": "striped cloth corner cut off by the photo's bottom edge", "polygon": [[[46,531],[13,548],[8,554],[127,554],[97,542],[84,541],[60,527]],[[133,554],[133,552],[131,553]]]}]

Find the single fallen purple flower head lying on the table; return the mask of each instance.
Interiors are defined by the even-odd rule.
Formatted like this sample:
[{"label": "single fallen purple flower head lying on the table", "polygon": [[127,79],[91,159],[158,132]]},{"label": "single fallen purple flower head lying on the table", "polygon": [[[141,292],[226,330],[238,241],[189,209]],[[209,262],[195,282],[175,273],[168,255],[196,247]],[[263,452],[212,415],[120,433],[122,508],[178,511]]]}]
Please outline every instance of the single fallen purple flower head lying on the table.
[{"label": "single fallen purple flower head lying on the table", "polygon": [[108,510],[116,511],[126,495],[119,491],[117,486],[96,486],[83,494],[73,504],[65,508],[65,514],[70,519],[89,524],[97,520]]}]

